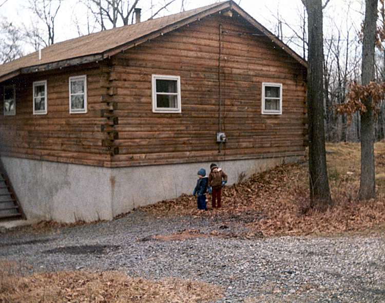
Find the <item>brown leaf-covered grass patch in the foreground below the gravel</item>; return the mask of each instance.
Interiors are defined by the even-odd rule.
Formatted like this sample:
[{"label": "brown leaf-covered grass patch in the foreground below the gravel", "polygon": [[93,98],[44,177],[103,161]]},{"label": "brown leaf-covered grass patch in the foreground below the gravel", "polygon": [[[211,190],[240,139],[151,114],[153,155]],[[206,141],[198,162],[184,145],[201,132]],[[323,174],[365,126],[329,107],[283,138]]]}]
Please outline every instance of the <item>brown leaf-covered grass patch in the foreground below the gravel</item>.
[{"label": "brown leaf-covered grass patch in the foreground below the gravel", "polygon": [[221,288],[201,281],[132,278],[118,271],[21,274],[20,265],[0,261],[0,302],[202,302]]}]

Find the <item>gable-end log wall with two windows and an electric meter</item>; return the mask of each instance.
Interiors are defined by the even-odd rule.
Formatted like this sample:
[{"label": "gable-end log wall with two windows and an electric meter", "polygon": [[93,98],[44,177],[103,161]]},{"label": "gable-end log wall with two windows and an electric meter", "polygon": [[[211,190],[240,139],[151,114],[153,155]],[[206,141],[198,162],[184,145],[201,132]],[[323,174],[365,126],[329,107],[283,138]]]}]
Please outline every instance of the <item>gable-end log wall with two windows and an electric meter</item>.
[{"label": "gable-end log wall with two windows and an electric meter", "polygon": [[[115,55],[109,80],[119,154],[111,165],[303,154],[305,70],[259,34],[237,18],[211,16]],[[152,112],[151,74],[181,77],[181,113]],[[262,82],[282,83],[282,115],[261,115]],[[227,137],[220,146],[219,130]]]}]

